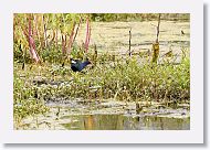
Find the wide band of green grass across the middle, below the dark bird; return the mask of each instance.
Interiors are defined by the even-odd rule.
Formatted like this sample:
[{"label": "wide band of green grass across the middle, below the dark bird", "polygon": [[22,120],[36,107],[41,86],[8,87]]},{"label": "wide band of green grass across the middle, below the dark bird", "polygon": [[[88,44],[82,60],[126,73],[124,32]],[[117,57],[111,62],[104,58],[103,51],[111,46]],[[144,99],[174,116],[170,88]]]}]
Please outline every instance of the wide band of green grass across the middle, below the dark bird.
[{"label": "wide band of green grass across the middle, below the dark bird", "polygon": [[[85,73],[74,73],[69,67],[44,63],[42,66],[27,64],[25,71],[14,63],[14,118],[20,120],[29,115],[44,114],[44,100],[52,98],[84,98],[87,100],[108,99],[124,101],[186,103],[190,100],[190,60],[180,64],[165,63],[139,65],[137,56],[117,60],[111,65],[112,56],[102,55],[99,62]],[[99,58],[101,60],[101,58]],[[38,86],[35,77],[46,81]],[[61,85],[50,83],[65,82]]]}]

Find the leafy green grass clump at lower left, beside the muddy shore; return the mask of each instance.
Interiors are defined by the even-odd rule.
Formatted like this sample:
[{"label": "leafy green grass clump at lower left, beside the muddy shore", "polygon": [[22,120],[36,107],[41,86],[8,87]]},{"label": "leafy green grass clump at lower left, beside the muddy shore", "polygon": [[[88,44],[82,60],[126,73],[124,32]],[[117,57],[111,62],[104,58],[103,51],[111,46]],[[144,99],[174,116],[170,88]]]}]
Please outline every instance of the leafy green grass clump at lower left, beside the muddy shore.
[{"label": "leafy green grass clump at lower left, beside the muddy shore", "polygon": [[17,125],[19,125],[21,119],[27,116],[44,114],[48,111],[49,108],[44,103],[38,99],[35,87],[23,82],[15,73],[13,83],[13,116]]}]

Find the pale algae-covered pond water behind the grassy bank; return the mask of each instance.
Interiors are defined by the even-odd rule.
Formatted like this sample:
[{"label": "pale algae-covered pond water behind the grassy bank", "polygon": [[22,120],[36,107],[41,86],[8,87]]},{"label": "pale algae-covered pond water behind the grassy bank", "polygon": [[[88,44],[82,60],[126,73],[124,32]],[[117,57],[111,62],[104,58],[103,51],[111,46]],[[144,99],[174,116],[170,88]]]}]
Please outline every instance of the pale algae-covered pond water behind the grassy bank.
[{"label": "pale algae-covered pond water behind the grassy bank", "polygon": [[[144,22],[92,22],[91,45],[96,44],[101,53],[125,53],[128,50],[129,30],[132,29],[132,50],[134,52],[150,50],[156,39],[157,21]],[[86,25],[82,25],[76,38],[80,43],[85,39]],[[181,30],[185,35],[181,35]],[[170,49],[181,53],[181,47],[190,45],[190,22],[161,21],[160,23],[160,53]],[[170,49],[169,49],[170,47]]]}]

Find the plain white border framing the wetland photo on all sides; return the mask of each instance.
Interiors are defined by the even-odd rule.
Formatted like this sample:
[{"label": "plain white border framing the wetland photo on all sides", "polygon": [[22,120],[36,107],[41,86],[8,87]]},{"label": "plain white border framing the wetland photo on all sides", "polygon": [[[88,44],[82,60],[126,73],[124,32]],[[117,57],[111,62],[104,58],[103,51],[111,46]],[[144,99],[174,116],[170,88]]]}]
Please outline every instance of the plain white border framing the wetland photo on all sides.
[{"label": "plain white border framing the wetland photo on all sides", "polygon": [[[2,1],[0,138],[4,143],[203,143],[202,9],[199,0]],[[13,13],[24,12],[190,13],[190,130],[13,130]]]}]

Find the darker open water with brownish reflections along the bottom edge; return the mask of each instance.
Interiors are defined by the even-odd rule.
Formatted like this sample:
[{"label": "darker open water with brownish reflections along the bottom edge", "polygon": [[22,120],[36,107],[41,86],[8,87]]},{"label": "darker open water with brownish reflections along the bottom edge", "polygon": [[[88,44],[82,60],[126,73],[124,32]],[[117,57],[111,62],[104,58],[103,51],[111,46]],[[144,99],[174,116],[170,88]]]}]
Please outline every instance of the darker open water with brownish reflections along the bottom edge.
[{"label": "darker open water with brownish reflections along the bottom edge", "polygon": [[[65,117],[66,118],[66,117]],[[69,116],[69,130],[189,130],[190,118],[130,117],[124,115]],[[71,121],[74,120],[74,121]],[[76,121],[75,121],[76,120]]]}]

